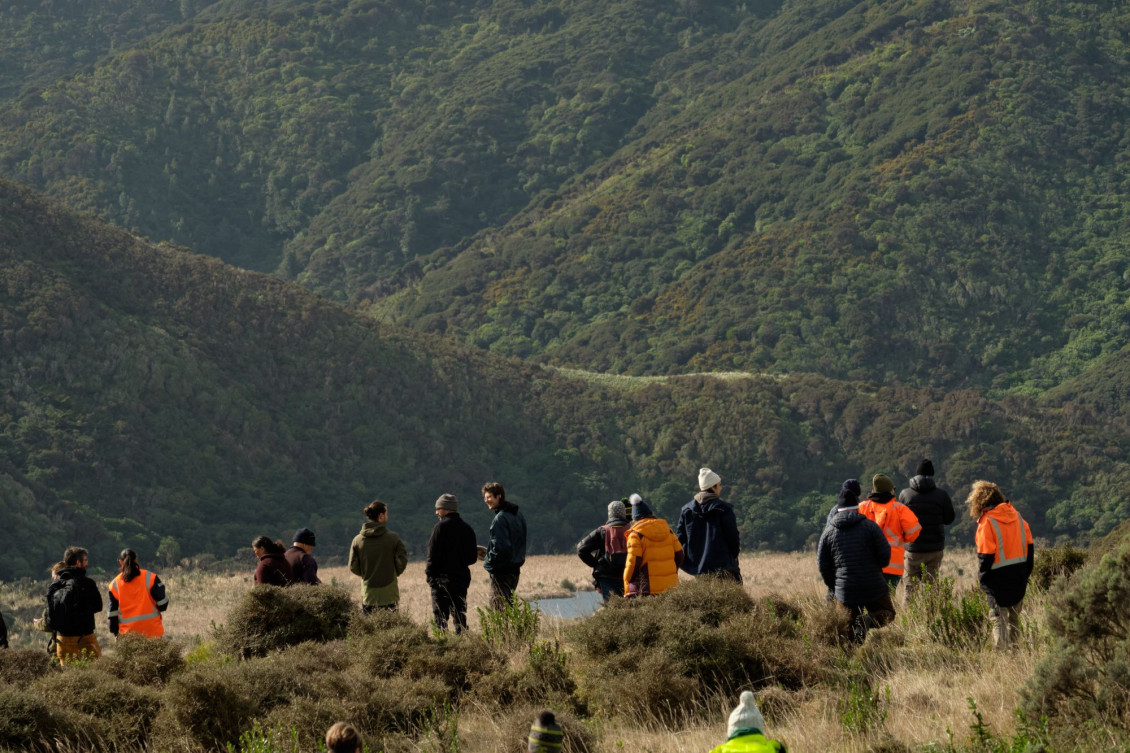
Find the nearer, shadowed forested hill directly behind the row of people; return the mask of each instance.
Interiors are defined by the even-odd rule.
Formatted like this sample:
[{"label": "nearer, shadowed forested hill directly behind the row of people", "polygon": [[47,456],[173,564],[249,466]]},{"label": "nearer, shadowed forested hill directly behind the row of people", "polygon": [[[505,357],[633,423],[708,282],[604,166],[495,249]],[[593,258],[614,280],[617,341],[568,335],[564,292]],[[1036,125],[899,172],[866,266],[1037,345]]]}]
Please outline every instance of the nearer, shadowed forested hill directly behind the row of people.
[{"label": "nearer, shadowed forested hill directly behind the row of people", "polygon": [[[488,479],[522,505],[531,551],[567,551],[631,491],[673,520],[701,465],[722,475],[747,547],[792,548],[844,478],[904,484],[923,453],[955,499],[992,478],[1041,538],[1087,538],[1130,517],[1125,358],[1042,400],[558,373],[0,181],[0,578],[42,575],[71,543],[102,564],[122,546],[231,556],[301,526],[341,556],[374,497],[419,555],[444,491],[485,536]],[[971,521],[954,535],[968,540]]]}]

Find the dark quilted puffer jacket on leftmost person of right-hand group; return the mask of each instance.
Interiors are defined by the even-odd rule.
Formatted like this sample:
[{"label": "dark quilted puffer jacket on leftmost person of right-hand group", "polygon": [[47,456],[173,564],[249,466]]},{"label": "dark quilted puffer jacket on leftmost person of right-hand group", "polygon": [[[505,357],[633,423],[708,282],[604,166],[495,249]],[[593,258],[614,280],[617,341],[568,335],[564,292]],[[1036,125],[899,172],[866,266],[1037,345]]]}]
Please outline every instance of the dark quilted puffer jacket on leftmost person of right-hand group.
[{"label": "dark quilted puffer jacket on leftmost person of right-hand group", "polygon": [[890,544],[857,508],[836,513],[820,535],[816,557],[820,578],[841,604],[870,604],[887,592],[883,569],[890,562]]}]

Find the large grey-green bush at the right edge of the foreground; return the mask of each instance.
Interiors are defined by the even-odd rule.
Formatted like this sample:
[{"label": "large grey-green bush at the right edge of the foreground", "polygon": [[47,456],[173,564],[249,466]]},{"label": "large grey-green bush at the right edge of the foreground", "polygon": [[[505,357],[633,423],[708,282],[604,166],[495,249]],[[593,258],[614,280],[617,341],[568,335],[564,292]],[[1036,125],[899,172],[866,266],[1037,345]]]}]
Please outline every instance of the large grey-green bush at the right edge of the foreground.
[{"label": "large grey-green bush at the right edge of the foreground", "polygon": [[1023,692],[1029,719],[1130,733],[1130,542],[1049,597],[1052,650]]}]

